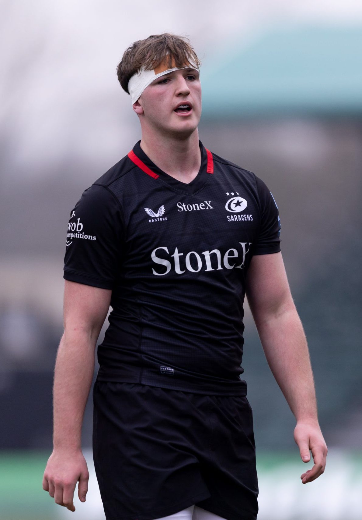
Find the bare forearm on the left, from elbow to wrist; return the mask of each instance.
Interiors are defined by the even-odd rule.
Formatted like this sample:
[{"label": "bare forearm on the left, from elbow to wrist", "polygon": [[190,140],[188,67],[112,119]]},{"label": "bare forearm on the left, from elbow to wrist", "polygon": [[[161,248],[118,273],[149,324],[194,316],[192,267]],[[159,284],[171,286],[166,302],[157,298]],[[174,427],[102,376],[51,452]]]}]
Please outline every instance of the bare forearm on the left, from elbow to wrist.
[{"label": "bare forearm on the left, from elbow to wrist", "polygon": [[90,334],[64,332],[54,370],[54,449],[80,449],[81,426],[94,373]]}]

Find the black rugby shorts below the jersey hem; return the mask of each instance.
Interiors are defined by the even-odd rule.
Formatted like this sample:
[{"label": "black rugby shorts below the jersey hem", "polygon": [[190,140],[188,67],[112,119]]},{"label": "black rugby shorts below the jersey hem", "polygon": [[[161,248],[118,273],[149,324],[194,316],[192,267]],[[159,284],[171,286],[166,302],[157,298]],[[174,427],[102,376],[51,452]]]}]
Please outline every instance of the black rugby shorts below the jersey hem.
[{"label": "black rugby shorts below the jersey hem", "polygon": [[255,520],[258,482],[245,396],[97,381],[93,458],[107,520],[152,520],[192,504]]}]

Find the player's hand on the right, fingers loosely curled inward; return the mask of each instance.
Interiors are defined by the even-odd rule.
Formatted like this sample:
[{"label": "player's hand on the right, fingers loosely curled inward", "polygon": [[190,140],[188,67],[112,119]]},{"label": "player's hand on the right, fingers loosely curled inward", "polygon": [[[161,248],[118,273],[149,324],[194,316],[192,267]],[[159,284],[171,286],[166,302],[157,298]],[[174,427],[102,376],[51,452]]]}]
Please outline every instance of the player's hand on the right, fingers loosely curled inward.
[{"label": "player's hand on the right, fingers loosely curled inward", "polygon": [[299,447],[300,457],[303,462],[310,461],[309,450],[312,452],[314,466],[300,476],[302,484],[307,484],[307,482],[312,482],[319,475],[322,475],[326,467],[328,448],[318,421],[298,421],[294,430],[294,440]]}]

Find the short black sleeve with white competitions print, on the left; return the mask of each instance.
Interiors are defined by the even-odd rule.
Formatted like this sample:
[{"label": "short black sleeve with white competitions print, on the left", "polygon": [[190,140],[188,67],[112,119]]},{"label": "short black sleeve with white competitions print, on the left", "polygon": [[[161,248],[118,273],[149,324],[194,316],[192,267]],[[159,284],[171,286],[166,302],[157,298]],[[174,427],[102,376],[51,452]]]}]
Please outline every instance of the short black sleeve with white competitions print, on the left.
[{"label": "short black sleeve with white competitions print, on the left", "polygon": [[122,212],[108,188],[92,185],[71,211],[66,235],[64,278],[112,289],[120,271]]}]

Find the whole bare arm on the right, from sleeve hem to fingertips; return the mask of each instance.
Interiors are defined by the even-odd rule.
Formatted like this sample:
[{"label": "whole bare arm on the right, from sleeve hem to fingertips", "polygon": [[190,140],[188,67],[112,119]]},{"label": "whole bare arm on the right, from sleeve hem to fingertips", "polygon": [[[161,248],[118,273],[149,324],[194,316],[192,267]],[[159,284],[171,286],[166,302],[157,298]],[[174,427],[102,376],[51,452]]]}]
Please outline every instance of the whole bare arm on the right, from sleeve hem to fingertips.
[{"label": "whole bare arm on the right, from sleeve hem to fingertips", "polygon": [[255,255],[247,273],[246,295],[269,367],[294,413],[294,438],[311,482],[324,472],[327,446],[319,427],[307,340],[290,294],[281,253]]}]

